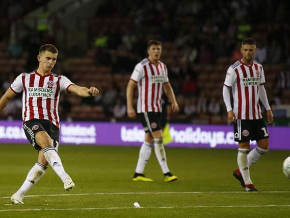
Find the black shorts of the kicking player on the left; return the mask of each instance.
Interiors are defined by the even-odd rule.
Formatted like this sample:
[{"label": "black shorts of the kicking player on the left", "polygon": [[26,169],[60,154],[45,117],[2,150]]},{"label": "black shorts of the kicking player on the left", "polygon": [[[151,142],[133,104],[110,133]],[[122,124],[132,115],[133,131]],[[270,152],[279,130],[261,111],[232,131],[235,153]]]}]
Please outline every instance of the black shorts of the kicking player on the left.
[{"label": "black shorts of the kicking player on the left", "polygon": [[35,133],[39,131],[47,132],[52,140],[54,140],[54,147],[57,148],[60,137],[60,129],[46,119],[31,119],[23,124],[24,133],[30,143],[36,150],[41,147],[35,141]]}]

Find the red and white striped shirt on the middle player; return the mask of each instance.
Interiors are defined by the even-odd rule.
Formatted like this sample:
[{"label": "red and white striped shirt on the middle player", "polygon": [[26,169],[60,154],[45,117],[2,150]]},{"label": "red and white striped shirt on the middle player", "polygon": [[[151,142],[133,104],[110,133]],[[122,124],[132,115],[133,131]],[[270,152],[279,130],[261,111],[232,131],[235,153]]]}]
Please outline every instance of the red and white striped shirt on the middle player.
[{"label": "red and white striped shirt on the middle player", "polygon": [[143,59],[135,66],[130,79],[138,82],[137,113],[162,112],[162,85],[169,82],[166,65]]}]

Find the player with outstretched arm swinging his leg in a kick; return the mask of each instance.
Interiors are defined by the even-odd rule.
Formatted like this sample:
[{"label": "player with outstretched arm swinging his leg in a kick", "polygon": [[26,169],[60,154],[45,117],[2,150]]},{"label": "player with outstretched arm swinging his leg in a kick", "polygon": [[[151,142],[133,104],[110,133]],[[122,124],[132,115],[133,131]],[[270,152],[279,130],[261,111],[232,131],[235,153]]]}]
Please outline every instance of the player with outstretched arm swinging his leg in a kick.
[{"label": "player with outstretched arm swinging his leg in a kick", "polygon": [[64,183],[65,190],[74,188],[70,176],[65,172],[58,155],[60,119],[58,105],[60,92],[66,90],[82,97],[99,93],[95,87],[81,87],[68,78],[51,72],[58,57],[58,50],[52,44],[42,45],[37,60],[38,69],[20,74],[0,99],[3,110],[14,96],[22,92],[23,129],[33,147],[38,150],[36,164],[30,169],[22,186],[11,197],[13,204],[23,204],[25,193],[44,175],[48,164]]}]

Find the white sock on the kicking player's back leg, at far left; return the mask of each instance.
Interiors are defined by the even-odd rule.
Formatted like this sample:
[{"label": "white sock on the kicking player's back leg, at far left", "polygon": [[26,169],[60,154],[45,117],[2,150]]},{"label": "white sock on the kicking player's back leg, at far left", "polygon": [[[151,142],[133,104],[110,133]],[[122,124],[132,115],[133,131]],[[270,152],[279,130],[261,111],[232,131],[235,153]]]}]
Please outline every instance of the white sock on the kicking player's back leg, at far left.
[{"label": "white sock on the kicking player's back leg, at far left", "polygon": [[43,177],[46,169],[47,166],[43,165],[42,163],[36,162],[36,164],[30,169],[26,179],[17,191],[20,196],[23,197],[25,193]]}]

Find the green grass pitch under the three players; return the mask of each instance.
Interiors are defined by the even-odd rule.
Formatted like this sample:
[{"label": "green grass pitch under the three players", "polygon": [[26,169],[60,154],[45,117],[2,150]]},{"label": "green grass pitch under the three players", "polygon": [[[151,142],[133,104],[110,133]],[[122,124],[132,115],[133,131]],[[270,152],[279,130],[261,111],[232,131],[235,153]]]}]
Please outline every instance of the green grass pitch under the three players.
[{"label": "green grass pitch under the three players", "polygon": [[257,193],[232,177],[237,150],[166,152],[179,179],[163,181],[152,150],[144,173],[154,182],[142,183],[132,181],[139,147],[62,145],[59,154],[76,187],[65,191],[49,167],[24,205],[11,205],[37,152],[29,144],[1,144],[0,217],[289,217],[290,180],[282,173],[289,151],[270,151],[250,168]]}]

